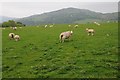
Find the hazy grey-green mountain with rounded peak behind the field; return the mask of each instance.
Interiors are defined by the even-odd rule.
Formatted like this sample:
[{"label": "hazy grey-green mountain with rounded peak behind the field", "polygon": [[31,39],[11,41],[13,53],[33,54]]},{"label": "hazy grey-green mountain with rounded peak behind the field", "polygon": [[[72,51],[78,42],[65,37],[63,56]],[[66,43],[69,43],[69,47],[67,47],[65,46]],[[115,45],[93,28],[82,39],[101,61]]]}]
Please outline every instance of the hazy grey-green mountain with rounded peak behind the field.
[{"label": "hazy grey-green mountain with rounded peak behind the field", "polygon": [[117,20],[118,15],[116,13],[98,13],[86,9],[77,8],[64,8],[61,10],[43,13],[40,15],[33,15],[16,21],[22,22],[27,25],[38,25],[38,24],[65,24],[65,23],[77,23],[86,20]]}]

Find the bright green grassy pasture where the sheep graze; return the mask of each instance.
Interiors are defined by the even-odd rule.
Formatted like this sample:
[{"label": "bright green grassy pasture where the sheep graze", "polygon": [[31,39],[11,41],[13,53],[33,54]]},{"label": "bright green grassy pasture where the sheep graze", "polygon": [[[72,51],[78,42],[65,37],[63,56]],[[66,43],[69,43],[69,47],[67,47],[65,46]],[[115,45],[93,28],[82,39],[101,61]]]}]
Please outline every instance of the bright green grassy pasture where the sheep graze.
[{"label": "bright green grassy pasture where the sheep graze", "polygon": [[[95,29],[94,36],[87,35],[87,27]],[[60,43],[59,34],[67,30],[73,30],[70,41]],[[19,34],[20,41],[9,40],[10,32]],[[2,66],[3,78],[116,78],[118,24],[6,28],[2,30]]]}]

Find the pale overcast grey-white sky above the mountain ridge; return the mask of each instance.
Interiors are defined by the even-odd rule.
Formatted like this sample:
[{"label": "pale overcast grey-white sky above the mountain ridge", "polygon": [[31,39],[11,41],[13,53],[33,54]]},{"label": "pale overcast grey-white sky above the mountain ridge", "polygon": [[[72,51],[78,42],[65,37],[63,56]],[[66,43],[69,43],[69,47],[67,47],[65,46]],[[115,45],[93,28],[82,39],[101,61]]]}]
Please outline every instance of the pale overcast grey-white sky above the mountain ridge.
[{"label": "pale overcast grey-white sky above the mountain ridge", "polygon": [[[85,0],[86,1],[86,0]],[[0,2],[0,16],[8,16],[8,17],[15,17],[15,18],[22,18],[28,17],[35,14],[42,14],[45,12],[51,12],[55,10],[59,10],[62,8],[79,8],[79,9],[88,9],[95,12],[102,12],[102,13],[112,13],[118,11],[118,0],[110,1],[47,1],[44,0],[43,2],[36,0],[29,0],[16,2],[11,0],[4,0]]]}]

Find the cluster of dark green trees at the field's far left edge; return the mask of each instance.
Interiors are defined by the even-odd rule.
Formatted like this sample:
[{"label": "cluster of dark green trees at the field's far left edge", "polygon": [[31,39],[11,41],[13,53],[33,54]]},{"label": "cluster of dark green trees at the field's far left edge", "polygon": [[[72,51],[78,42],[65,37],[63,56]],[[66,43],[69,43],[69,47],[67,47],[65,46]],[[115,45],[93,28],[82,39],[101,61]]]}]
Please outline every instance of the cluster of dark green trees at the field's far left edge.
[{"label": "cluster of dark green trees at the field's far left edge", "polygon": [[7,22],[2,23],[2,27],[21,27],[25,26],[25,24],[22,24],[21,22],[15,22],[14,20],[9,20]]}]

